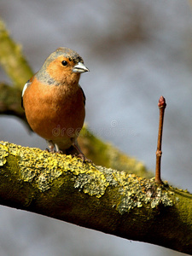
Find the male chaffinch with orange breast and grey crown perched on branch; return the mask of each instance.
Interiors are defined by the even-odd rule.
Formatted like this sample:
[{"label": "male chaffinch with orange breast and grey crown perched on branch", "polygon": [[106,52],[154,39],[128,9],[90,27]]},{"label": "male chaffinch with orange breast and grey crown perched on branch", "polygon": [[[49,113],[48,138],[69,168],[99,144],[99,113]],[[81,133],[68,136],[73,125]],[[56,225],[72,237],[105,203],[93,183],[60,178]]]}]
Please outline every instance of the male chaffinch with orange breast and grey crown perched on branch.
[{"label": "male chaffinch with orange breast and grey crown perched on branch", "polygon": [[88,71],[77,52],[58,48],[26,82],[21,99],[29,125],[46,139],[49,151],[65,152],[73,146],[83,161],[87,159],[77,138],[84,125],[85,96],[79,78]]}]

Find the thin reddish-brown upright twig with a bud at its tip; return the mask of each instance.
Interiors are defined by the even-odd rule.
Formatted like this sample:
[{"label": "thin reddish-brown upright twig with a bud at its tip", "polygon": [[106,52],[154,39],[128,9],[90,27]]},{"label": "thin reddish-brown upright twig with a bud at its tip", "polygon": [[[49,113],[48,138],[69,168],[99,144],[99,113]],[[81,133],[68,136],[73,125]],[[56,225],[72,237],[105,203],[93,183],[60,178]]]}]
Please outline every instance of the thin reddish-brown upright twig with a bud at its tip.
[{"label": "thin reddish-brown upright twig with a bud at its tip", "polygon": [[157,151],[156,151],[155,182],[162,183],[160,178],[160,159],[162,154],[161,143],[162,143],[162,133],[163,133],[163,119],[164,119],[164,112],[166,108],[166,99],[163,96],[160,96],[158,107],[160,108],[160,121],[159,121],[159,131],[158,131]]}]

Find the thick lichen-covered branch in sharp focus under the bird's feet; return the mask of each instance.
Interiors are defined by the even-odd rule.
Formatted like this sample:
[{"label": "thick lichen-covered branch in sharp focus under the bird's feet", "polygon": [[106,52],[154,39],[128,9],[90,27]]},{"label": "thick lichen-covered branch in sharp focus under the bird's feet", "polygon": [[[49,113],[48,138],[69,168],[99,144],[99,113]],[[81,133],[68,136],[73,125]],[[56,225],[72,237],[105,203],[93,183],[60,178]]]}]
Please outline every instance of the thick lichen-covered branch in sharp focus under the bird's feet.
[{"label": "thick lichen-covered branch in sharp focus under the bird's feet", "polygon": [[0,202],[192,254],[192,195],[71,155],[0,143]]}]

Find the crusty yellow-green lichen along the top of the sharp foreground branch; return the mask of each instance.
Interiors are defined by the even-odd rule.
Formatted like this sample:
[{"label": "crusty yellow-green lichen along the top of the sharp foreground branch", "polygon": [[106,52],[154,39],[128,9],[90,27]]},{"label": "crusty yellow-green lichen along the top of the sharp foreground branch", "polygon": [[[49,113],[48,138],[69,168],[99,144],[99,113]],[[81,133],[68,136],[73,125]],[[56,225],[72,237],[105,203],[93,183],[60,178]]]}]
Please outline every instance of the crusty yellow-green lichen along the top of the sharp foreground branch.
[{"label": "crusty yellow-green lichen along the top of the sharp foreground branch", "polygon": [[[0,148],[0,166],[6,166],[9,157],[15,157],[16,171],[20,181],[29,182],[34,189],[42,192],[54,186],[57,178],[66,176],[67,172],[70,172],[73,175],[74,189],[82,190],[88,195],[95,195],[97,198],[104,195],[108,187],[119,187],[121,201],[117,201],[116,208],[120,213],[134,207],[142,207],[143,204],[151,204],[152,208],[157,207],[158,204],[173,205],[173,194],[166,189],[166,186],[164,189],[157,189],[157,194],[152,193],[152,190],[156,189],[153,178],[147,180],[127,172],[119,172],[90,163],[84,164],[71,154],[49,154],[39,148],[24,148],[3,142],[0,142]],[[15,169],[15,165],[13,166]],[[130,197],[129,201],[125,200],[127,196]]]}]

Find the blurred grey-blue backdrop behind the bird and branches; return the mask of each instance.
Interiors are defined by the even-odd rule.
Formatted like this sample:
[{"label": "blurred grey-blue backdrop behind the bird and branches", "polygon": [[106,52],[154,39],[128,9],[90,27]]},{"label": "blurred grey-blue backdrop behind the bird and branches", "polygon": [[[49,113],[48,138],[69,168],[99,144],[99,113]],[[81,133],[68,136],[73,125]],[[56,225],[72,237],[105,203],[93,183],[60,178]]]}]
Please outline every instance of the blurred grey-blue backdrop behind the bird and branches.
[{"label": "blurred grey-blue backdrop behind the bird and branches", "polygon": [[[191,8],[186,0],[1,0],[0,16],[34,72],[60,46],[83,57],[90,69],[80,80],[86,123],[150,170],[157,103],[165,96],[162,177],[192,192]],[[10,84],[1,67],[0,81]],[[0,140],[46,147],[20,120],[6,116],[0,116]],[[181,255],[9,207],[0,207],[0,226],[5,256]]]}]

